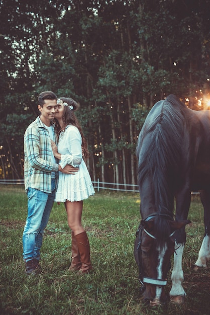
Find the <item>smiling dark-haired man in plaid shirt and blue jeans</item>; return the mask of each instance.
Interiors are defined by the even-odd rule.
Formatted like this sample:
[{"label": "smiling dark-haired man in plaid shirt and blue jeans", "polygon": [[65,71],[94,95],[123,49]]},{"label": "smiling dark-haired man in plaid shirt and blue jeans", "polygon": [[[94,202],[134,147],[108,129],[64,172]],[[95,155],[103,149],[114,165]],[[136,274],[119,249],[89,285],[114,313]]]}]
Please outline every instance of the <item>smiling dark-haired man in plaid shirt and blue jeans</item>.
[{"label": "smiling dark-haired man in plaid shirt and blue jeans", "polygon": [[40,116],[26,129],[24,135],[24,180],[28,196],[28,216],[23,232],[23,258],[26,274],[39,270],[40,249],[55,198],[58,172],[78,172],[70,165],[61,168],[52,152],[51,139],[57,143],[52,119],[57,97],[51,91],[38,96]]}]

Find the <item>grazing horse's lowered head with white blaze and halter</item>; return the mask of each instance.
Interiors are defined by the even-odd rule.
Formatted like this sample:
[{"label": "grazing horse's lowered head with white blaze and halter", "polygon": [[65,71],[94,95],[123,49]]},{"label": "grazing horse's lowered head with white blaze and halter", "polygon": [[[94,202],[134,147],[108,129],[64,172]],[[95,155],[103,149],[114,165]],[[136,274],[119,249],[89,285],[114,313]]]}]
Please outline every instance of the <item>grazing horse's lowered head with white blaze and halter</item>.
[{"label": "grazing horse's lowered head with white blaze and halter", "polygon": [[[161,224],[157,224],[161,222]],[[137,231],[134,255],[139,267],[139,281],[144,299],[150,305],[166,302],[164,286],[174,253],[175,230],[190,223],[189,220],[173,221],[167,215],[152,214],[141,221]]]}]

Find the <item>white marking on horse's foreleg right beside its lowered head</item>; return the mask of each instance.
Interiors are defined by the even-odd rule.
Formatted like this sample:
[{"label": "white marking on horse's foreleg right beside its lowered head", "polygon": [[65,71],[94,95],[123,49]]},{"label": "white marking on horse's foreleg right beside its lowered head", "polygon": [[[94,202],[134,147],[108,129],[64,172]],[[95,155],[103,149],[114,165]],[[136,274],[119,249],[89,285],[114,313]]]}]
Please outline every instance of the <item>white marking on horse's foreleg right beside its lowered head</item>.
[{"label": "white marking on horse's foreleg right beside its lowered head", "polygon": [[177,244],[175,242],[175,253],[174,253],[174,265],[173,271],[171,274],[172,280],[172,287],[170,290],[170,296],[177,296],[177,295],[186,295],[184,289],[182,287],[182,282],[184,279],[184,273],[182,270],[181,262],[182,262],[182,255],[183,255],[184,245]]}]

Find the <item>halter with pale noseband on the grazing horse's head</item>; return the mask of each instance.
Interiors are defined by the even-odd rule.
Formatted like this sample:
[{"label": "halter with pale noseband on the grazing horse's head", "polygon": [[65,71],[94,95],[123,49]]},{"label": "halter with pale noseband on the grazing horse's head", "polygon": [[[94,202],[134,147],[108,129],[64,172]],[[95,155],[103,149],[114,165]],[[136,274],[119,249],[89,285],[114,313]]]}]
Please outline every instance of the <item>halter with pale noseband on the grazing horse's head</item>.
[{"label": "halter with pale noseband on the grazing horse's head", "polygon": [[[146,219],[144,219],[144,222],[148,222],[151,219],[153,219],[155,216],[160,215],[162,217],[164,217],[165,219],[170,218],[173,219],[171,216],[167,215],[167,214],[159,214],[159,213],[153,213],[150,214],[148,217],[146,217]],[[163,280],[163,279],[154,279],[154,278],[149,278],[149,277],[143,277],[142,275],[142,268],[141,268],[141,263],[142,263],[142,251],[141,251],[141,242],[142,242],[142,231],[145,231],[149,237],[151,237],[152,239],[156,240],[156,237],[154,237],[154,235],[152,235],[151,233],[149,233],[144,226],[142,226],[142,224],[139,225],[139,228],[136,232],[136,237],[139,235],[140,233],[140,237],[139,237],[139,242],[137,244],[137,252],[139,252],[139,255],[137,254],[137,264],[139,267],[139,282],[141,283],[141,288],[140,291],[143,293],[144,290],[146,289],[145,283],[148,284],[154,284],[154,285],[158,285],[158,286],[165,286],[167,284],[167,280]],[[170,235],[169,238],[172,237],[172,235],[175,233],[175,231],[173,231]],[[140,258],[139,258],[140,257]],[[170,266],[168,268],[168,270],[170,269]]]}]

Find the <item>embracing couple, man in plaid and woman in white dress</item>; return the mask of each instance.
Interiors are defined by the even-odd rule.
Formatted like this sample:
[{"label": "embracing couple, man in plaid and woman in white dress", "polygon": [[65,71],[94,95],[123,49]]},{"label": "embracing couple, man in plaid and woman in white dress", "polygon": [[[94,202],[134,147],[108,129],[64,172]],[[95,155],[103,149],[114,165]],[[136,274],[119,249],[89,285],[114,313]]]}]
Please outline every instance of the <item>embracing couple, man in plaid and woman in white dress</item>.
[{"label": "embracing couple, man in plaid and woman in white dress", "polygon": [[72,259],[69,270],[88,273],[91,269],[87,234],[81,224],[83,200],[94,195],[83,160],[87,144],[74,111],[78,104],[51,92],[38,96],[40,116],[24,135],[24,179],[28,216],[23,232],[26,274],[39,272],[44,229],[54,201],[64,202],[71,228]]}]

